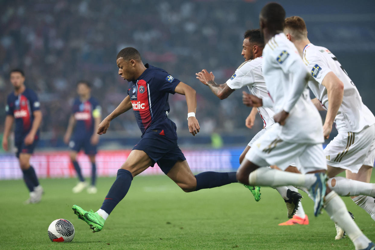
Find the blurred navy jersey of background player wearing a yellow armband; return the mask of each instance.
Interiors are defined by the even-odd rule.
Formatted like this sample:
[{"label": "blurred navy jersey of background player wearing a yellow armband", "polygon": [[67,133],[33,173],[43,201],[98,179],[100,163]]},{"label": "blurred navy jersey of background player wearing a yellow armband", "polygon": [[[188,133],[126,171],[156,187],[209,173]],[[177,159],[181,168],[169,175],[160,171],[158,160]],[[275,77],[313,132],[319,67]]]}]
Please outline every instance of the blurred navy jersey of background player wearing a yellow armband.
[{"label": "blurred navy jersey of background player wearing a yellow armband", "polygon": [[91,136],[94,133],[94,118],[101,115],[101,107],[94,97],[81,102],[76,98],[73,103],[72,114],[77,121],[73,135],[78,138]]}]

